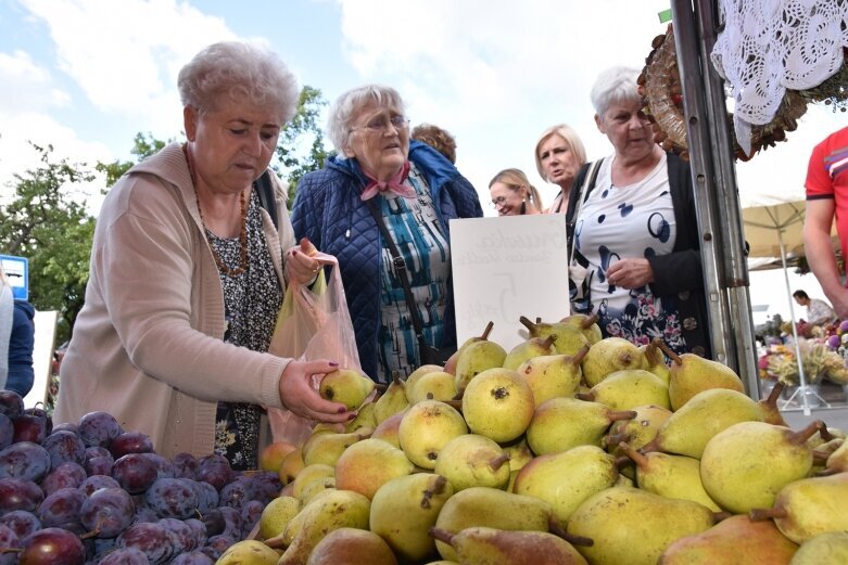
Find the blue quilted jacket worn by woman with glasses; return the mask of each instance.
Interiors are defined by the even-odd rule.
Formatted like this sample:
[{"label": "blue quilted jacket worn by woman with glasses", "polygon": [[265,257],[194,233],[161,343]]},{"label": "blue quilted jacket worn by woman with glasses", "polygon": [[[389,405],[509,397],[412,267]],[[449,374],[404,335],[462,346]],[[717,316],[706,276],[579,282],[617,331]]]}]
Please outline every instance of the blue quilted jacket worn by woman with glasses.
[{"label": "blue quilted jacket worn by woman with glasses", "polygon": [[[483,215],[477,191],[439,152],[410,141],[409,160],[427,179],[435,210],[448,233],[448,220]],[[298,240],[308,237],[339,258],[363,371],[377,378],[377,331],[380,321],[381,235],[359,194],[367,179],[355,159],[330,157],[321,170],[298,184],[291,220]],[[450,286],[448,286],[448,292]],[[456,346],[453,293],[445,309],[445,336]]]}]

